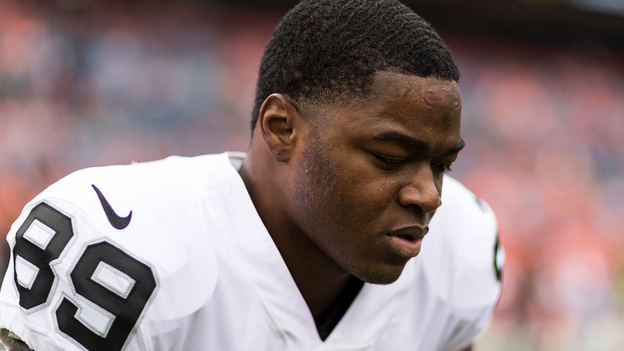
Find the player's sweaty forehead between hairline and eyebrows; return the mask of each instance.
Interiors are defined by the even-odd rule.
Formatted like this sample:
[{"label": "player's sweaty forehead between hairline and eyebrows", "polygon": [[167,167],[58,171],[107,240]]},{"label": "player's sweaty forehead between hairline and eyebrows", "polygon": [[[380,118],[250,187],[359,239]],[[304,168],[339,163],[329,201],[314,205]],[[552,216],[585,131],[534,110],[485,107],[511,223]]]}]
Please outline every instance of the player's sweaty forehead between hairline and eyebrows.
[{"label": "player's sweaty forehead between hairline and eyebrows", "polygon": [[328,106],[329,134],[397,131],[429,142],[461,141],[459,84],[434,77],[378,72],[370,94],[341,106]]}]

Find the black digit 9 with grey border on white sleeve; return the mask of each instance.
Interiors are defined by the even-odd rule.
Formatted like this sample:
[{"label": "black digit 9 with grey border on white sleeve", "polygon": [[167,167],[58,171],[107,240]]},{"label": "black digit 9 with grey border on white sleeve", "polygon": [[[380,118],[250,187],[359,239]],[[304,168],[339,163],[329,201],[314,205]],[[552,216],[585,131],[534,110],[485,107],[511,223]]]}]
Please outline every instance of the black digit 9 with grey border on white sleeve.
[{"label": "black digit 9 with grey border on white sleeve", "polygon": [[[100,262],[134,280],[127,296],[107,289],[91,279]],[[105,337],[98,335],[74,317],[78,307],[64,298],[56,310],[59,329],[89,350],[121,350],[156,288],[152,269],[112,244],[100,242],[87,246],[72,270],[71,278],[78,294],[114,314],[115,320]]]}]

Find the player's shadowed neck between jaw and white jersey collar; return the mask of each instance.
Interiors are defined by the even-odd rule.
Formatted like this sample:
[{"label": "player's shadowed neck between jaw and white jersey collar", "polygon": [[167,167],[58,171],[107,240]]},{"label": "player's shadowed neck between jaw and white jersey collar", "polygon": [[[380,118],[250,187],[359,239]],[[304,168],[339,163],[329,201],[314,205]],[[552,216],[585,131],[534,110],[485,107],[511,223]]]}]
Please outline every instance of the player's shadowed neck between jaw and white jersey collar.
[{"label": "player's shadowed neck between jaw and white jersey collar", "polygon": [[[281,182],[271,160],[254,162],[250,151],[239,173],[260,218],[295,280],[314,320],[317,320],[344,289],[350,275],[339,267],[288,215],[281,197]],[[275,162],[275,161],[273,161]],[[273,164],[267,169],[266,164]],[[264,167],[260,167],[264,166]]]}]

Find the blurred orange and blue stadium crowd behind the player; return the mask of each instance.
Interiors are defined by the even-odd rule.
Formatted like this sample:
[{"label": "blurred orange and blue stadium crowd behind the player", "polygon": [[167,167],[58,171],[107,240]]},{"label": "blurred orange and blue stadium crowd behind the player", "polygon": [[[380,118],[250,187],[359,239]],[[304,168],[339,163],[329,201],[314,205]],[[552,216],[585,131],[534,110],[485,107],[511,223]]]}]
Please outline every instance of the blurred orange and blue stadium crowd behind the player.
[{"label": "blurred orange and blue stadium crowd behind the player", "polygon": [[[247,149],[283,12],[16,4],[0,2],[2,236],[76,169]],[[452,175],[494,207],[507,251],[477,350],[624,349],[624,52],[441,34],[462,72]]]}]

